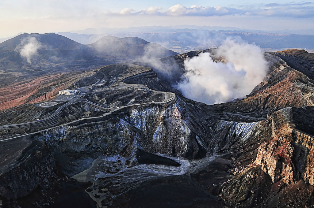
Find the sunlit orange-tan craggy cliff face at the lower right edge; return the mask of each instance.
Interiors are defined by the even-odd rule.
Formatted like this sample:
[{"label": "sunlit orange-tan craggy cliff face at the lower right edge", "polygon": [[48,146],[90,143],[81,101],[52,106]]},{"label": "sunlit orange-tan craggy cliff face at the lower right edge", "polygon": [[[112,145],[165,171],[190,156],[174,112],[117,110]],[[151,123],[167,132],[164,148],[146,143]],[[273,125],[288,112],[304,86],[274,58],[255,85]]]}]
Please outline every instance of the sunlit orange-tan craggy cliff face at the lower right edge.
[{"label": "sunlit orange-tan craggy cliff face at the lower right edge", "polygon": [[272,114],[272,137],[259,147],[255,162],[262,165],[273,182],[283,179],[290,184],[303,179],[313,184],[314,140],[306,128],[311,119],[302,119],[313,112],[313,107],[284,108]]}]

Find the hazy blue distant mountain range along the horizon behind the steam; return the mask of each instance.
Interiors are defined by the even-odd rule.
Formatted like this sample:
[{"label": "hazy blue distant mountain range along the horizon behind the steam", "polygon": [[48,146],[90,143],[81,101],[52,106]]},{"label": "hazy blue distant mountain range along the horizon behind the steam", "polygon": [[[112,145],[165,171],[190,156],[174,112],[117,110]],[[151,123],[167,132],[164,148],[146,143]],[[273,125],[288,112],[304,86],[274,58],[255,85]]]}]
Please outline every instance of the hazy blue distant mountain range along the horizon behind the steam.
[{"label": "hazy blue distant mountain range along the horizon behind the steam", "polygon": [[[149,30],[150,29],[150,30]],[[210,28],[208,28],[210,29]],[[219,29],[219,28],[216,28]],[[79,33],[86,34],[79,34]],[[94,34],[90,34],[94,32]],[[100,33],[102,32],[102,33]],[[191,50],[203,50],[218,47],[227,37],[241,37],[244,41],[260,46],[265,51],[278,51],[284,49],[306,49],[314,52],[314,30],[307,32],[296,31],[259,31],[236,28],[222,28],[221,30],[205,29],[168,29],[166,27],[141,29],[131,28],[129,31],[123,29],[86,29],[77,33],[58,33],[82,44],[90,44],[105,35],[116,37],[139,37],[151,43],[160,44],[178,53]]]}]

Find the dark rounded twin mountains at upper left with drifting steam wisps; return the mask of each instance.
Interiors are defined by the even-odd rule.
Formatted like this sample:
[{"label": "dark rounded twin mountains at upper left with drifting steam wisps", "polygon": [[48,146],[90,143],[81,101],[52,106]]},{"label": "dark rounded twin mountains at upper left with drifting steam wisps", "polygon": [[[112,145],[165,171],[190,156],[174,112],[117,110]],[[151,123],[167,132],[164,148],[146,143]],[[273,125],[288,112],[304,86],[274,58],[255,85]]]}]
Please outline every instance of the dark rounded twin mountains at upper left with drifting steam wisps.
[{"label": "dark rounded twin mountains at upper left with drifting steam wisps", "polygon": [[177,53],[143,39],[105,36],[93,44],[80,44],[62,35],[20,34],[0,44],[0,81],[48,72],[90,70],[143,58]]}]

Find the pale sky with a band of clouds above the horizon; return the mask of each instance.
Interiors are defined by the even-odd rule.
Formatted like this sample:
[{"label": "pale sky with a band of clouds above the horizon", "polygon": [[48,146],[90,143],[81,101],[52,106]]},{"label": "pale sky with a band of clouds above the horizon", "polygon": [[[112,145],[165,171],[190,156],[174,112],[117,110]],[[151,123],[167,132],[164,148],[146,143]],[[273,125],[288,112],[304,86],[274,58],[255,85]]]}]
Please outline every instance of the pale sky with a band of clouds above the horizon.
[{"label": "pale sky with a band of clouds above the horizon", "polygon": [[86,28],[222,26],[314,29],[314,1],[0,0],[0,38]]}]

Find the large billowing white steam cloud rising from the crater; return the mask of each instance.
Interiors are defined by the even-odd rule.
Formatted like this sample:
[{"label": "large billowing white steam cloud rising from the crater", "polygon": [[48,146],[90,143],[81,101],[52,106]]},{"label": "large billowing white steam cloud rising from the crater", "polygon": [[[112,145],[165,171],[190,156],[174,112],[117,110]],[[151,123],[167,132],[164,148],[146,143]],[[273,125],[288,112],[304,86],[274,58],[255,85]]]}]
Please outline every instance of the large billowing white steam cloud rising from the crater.
[{"label": "large billowing white steam cloud rising from the crater", "polygon": [[225,62],[214,62],[209,53],[184,61],[186,72],[177,86],[184,96],[206,104],[232,101],[250,94],[267,74],[264,53],[256,45],[227,38],[217,55]]}]

